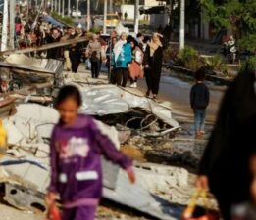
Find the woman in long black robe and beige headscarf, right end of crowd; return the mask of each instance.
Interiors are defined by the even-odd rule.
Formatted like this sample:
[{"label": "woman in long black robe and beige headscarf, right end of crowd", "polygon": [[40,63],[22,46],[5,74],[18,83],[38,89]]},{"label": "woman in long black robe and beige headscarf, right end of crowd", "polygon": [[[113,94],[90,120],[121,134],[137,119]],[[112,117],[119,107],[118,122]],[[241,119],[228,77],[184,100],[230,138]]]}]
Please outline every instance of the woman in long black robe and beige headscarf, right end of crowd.
[{"label": "woman in long black robe and beige headscarf, right end of crowd", "polygon": [[153,33],[152,40],[148,43],[144,55],[145,77],[147,83],[146,96],[153,93],[153,98],[157,98],[162,70],[163,46],[160,41],[162,35]]}]

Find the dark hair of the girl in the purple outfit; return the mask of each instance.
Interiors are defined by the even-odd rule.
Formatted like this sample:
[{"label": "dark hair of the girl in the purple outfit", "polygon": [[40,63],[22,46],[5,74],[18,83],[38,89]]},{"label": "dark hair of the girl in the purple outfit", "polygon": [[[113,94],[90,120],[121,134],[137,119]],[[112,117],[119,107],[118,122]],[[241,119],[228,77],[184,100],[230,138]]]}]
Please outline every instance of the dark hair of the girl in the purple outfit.
[{"label": "dark hair of the girl in the purple outfit", "polygon": [[82,99],[79,90],[76,86],[67,85],[63,86],[58,96],[55,100],[55,107],[58,107],[62,102],[64,102],[66,99],[72,98],[77,102],[77,106],[80,107],[82,104]]}]

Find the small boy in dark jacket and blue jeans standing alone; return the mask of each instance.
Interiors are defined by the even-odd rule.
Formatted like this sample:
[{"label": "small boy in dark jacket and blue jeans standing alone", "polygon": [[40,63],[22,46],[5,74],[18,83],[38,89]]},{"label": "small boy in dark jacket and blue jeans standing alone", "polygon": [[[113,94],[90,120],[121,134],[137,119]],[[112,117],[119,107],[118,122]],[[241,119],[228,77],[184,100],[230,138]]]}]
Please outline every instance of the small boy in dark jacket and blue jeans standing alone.
[{"label": "small boy in dark jacket and blue jeans standing alone", "polygon": [[195,72],[196,83],[190,91],[190,105],[194,111],[195,133],[196,136],[204,134],[204,120],[206,108],[210,100],[210,92],[204,84],[204,69],[200,68]]}]

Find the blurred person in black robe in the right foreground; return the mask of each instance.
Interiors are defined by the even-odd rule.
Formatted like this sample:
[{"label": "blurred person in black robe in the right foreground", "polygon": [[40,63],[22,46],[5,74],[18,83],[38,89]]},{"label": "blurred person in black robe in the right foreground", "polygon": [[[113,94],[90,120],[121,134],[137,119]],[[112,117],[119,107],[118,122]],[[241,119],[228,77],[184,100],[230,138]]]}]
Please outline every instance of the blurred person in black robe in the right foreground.
[{"label": "blurred person in black robe in the right foreground", "polygon": [[[256,62],[255,62],[256,63]],[[210,189],[225,220],[250,198],[249,158],[256,149],[256,65],[249,63],[230,83],[205,153],[197,187]]]}]

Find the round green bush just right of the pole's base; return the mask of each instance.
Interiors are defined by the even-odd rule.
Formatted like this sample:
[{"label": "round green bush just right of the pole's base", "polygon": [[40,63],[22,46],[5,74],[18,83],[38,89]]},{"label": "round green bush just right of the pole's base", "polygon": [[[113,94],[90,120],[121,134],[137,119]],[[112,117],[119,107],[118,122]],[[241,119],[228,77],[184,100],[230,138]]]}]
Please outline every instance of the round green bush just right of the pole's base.
[{"label": "round green bush just right of the pole's base", "polygon": [[192,47],[184,47],[179,53],[179,59],[182,66],[195,70],[199,67],[199,53]]}]

